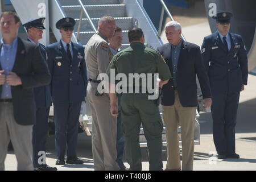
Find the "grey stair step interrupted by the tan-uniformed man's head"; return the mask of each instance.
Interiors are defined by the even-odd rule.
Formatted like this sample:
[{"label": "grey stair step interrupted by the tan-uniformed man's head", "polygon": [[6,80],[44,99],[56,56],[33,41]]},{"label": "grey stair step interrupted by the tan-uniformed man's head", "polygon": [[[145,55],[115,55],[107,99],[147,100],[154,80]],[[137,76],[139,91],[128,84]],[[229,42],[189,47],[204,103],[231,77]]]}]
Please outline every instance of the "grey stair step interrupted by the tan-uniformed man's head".
[{"label": "grey stair step interrupted by the tan-uniformed man's head", "polygon": [[[115,24],[122,28],[122,30],[130,30],[130,28],[133,27],[133,18],[132,17],[114,17],[115,19]],[[76,25],[75,25],[75,31],[77,31],[77,28],[79,26],[79,18],[76,18]],[[100,20],[100,18],[91,18],[94,27],[97,30],[98,27],[98,20]],[[92,27],[90,26],[89,20],[88,18],[82,18],[82,22],[81,22],[82,26],[81,26],[81,30],[92,30]]]}]

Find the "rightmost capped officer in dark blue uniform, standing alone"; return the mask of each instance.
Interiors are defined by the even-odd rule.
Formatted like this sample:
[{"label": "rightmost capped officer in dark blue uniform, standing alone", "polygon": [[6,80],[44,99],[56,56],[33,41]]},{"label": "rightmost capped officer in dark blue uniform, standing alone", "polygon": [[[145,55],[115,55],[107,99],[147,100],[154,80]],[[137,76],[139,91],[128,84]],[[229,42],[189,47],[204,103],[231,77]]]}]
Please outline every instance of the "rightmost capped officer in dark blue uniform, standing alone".
[{"label": "rightmost capped officer in dark blue uniform, standing alone", "polygon": [[242,37],[229,32],[232,13],[213,16],[218,31],[204,38],[201,47],[212,88],[213,139],[219,159],[236,154],[235,126],[240,92],[247,85],[247,53]]}]

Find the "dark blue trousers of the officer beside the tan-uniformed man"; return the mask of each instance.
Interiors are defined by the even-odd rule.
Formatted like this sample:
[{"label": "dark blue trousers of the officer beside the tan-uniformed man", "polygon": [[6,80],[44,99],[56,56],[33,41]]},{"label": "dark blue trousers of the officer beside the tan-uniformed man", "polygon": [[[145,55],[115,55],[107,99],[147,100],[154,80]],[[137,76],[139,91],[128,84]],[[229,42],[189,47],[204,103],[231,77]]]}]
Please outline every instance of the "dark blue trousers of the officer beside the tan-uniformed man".
[{"label": "dark blue trousers of the officer beside the tan-uniformed man", "polygon": [[67,156],[76,156],[81,102],[53,103],[53,106],[56,155],[64,159],[67,146]]}]

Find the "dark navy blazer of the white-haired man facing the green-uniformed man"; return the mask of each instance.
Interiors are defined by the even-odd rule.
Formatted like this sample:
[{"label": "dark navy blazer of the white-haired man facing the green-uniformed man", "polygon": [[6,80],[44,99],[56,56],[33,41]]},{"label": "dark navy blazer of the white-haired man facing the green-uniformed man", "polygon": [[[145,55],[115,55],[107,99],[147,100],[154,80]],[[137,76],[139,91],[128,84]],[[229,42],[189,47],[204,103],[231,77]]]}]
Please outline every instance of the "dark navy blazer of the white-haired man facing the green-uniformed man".
[{"label": "dark navy blazer of the white-haired man facing the green-uniformed man", "polygon": [[[172,71],[171,44],[167,43],[157,48],[162,54],[168,67]],[[182,42],[179,61],[177,64],[177,92],[180,103],[183,107],[197,106],[197,85],[196,75],[199,78],[201,90],[204,98],[210,98],[210,86],[207,72],[205,71],[203,60],[200,54],[200,47],[189,42]],[[173,81],[170,79],[163,86],[162,105],[174,105]]]}]

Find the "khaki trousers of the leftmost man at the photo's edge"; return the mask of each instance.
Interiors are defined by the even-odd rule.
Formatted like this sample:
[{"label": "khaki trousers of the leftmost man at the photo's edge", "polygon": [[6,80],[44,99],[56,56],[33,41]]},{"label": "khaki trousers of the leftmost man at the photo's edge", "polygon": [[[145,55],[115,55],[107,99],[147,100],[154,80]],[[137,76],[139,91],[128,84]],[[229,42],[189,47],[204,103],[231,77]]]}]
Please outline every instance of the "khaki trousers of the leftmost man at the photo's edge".
[{"label": "khaki trousers of the leftmost man at the photo's edge", "polygon": [[[32,113],[31,113],[32,114]],[[32,171],[33,125],[19,125],[14,119],[13,104],[0,102],[0,171],[5,170],[7,147],[11,139],[18,171]]]}]

